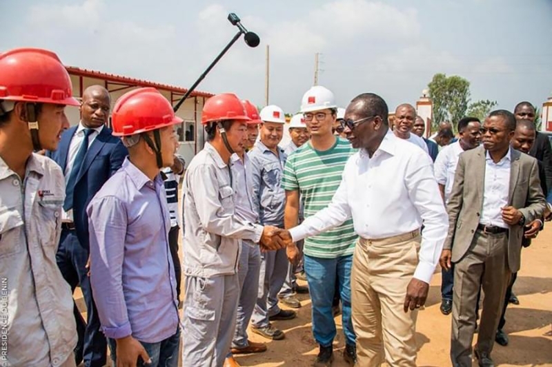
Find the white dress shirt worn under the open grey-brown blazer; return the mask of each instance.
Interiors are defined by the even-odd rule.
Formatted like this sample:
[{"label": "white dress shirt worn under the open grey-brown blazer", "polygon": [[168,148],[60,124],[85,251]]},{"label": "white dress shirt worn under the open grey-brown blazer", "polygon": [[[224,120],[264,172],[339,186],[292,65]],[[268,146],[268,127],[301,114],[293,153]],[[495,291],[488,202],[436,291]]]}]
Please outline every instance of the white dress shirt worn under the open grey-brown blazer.
[{"label": "white dress shirt worn under the open grey-brown blazer", "polygon": [[489,151],[485,158],[485,186],[480,223],[509,228],[502,220],[502,208],[508,206],[510,191],[511,148],[506,156],[495,163]]}]

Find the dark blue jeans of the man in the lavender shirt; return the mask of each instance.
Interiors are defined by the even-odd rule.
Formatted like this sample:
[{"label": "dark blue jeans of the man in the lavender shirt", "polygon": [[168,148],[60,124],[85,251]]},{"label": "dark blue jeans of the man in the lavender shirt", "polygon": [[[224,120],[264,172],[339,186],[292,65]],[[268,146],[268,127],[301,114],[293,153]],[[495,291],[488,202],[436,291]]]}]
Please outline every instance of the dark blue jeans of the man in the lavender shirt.
[{"label": "dark blue jeans of the man in the lavender shirt", "polygon": [[[108,339],[113,366],[117,366],[117,342]],[[157,343],[140,342],[150,356],[151,364],[144,364],[138,357],[137,367],[178,367],[178,348],[180,346],[180,326],[175,334]]]}]

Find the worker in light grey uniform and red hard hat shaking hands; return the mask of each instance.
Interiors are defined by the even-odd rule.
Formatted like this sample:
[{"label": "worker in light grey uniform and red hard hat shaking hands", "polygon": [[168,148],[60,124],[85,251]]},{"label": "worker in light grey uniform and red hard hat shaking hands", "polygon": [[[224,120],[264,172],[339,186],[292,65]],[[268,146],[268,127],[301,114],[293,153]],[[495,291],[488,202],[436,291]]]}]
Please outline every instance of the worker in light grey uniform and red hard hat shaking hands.
[{"label": "worker in light grey uniform and red hard hat shaking hands", "polygon": [[244,105],[235,94],[205,103],[201,123],[208,143],[190,162],[184,196],[184,366],[220,367],[230,350],[239,299],[241,240],[281,249],[279,229],[235,215],[230,156],[244,149]]}]

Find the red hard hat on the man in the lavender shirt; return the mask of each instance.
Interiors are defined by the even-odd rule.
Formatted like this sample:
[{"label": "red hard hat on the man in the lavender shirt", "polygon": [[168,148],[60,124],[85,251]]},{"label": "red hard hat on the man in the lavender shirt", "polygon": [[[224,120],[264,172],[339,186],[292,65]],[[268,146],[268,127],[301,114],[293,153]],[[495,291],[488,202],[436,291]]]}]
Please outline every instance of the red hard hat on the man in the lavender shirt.
[{"label": "red hard hat on the man in the lavender shirt", "polygon": [[121,96],[113,107],[114,136],[129,136],[181,123],[167,98],[155,88],[138,88]]}]

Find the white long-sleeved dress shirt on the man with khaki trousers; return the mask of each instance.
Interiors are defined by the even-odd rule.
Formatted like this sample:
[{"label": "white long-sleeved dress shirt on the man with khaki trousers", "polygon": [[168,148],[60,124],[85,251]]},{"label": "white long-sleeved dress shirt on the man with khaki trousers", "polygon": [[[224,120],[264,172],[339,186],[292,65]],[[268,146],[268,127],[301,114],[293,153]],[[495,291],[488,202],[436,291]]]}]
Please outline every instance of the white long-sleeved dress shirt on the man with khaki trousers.
[{"label": "white long-sleeved dress shirt on the man with khaki trousers", "polygon": [[364,149],[351,156],[331,204],[290,233],[296,242],[351,217],[356,233],[365,239],[408,233],[423,222],[414,277],[427,283],[431,280],[449,219],[428,154],[389,131],[371,158]]}]

